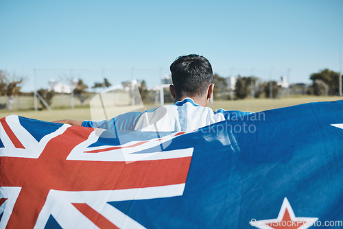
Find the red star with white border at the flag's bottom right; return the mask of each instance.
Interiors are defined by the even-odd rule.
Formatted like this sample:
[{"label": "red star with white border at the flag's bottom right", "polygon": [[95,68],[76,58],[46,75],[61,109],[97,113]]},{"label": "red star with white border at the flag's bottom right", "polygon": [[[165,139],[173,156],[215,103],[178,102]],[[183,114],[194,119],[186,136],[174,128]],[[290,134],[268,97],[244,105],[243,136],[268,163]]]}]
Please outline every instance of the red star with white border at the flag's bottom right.
[{"label": "red star with white border at the flag's bottom right", "polygon": [[287,198],[283,199],[283,203],[277,219],[265,219],[255,221],[252,219],[250,225],[260,229],[306,229],[314,225],[318,218],[296,217],[291,204]]}]

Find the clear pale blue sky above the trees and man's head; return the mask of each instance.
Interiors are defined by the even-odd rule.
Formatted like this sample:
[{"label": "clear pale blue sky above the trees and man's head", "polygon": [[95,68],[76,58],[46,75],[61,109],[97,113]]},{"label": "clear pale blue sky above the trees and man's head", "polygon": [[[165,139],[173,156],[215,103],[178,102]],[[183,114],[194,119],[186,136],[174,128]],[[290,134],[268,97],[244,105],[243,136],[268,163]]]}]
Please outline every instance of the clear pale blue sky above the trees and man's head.
[{"label": "clear pale blue sky above the trees and man's head", "polygon": [[290,82],[309,82],[339,71],[343,1],[0,0],[0,31],[0,69],[26,75],[25,91],[34,68],[37,88],[70,69],[88,86],[133,75],[152,87],[189,53],[221,76],[279,80],[291,69]]}]

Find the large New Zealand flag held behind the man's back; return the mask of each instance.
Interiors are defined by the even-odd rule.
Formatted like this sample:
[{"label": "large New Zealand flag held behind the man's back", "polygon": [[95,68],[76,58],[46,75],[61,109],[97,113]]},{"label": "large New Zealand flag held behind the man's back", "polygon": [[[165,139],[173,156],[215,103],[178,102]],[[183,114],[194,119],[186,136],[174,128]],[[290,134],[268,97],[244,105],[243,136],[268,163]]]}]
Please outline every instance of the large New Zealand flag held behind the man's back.
[{"label": "large New Zealand flag held behind the man's back", "polygon": [[0,228],[343,227],[343,101],[194,132],[0,121]]}]

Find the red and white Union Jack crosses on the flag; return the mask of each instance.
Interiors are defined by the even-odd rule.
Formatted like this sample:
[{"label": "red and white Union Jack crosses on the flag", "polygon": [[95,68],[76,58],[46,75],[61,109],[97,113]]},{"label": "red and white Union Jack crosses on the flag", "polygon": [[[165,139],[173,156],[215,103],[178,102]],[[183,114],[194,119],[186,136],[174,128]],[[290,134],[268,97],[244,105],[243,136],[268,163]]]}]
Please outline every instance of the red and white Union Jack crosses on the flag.
[{"label": "red and white Union Jack crosses on the flag", "polygon": [[88,147],[101,130],[62,125],[37,141],[16,116],[1,119],[0,132],[0,228],[44,228],[50,215],[62,228],[143,228],[108,202],[182,195],[193,154],[134,154],[183,132]]}]

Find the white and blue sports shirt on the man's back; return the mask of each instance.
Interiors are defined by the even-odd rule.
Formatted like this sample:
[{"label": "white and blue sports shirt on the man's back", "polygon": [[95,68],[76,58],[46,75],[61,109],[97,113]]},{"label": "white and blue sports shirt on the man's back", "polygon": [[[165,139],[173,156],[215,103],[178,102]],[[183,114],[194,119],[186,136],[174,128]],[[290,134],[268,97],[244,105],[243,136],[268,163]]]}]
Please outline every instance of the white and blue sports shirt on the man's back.
[{"label": "white and blue sports shirt on the man's back", "polygon": [[178,132],[197,130],[212,123],[250,114],[252,112],[223,109],[214,112],[209,107],[196,104],[193,99],[185,98],[174,105],[160,106],[145,112],[127,112],[109,121],[84,121],[82,126],[110,130]]}]

